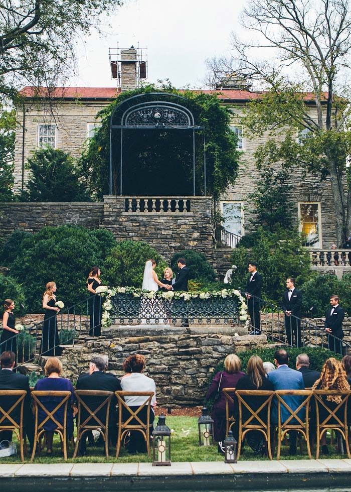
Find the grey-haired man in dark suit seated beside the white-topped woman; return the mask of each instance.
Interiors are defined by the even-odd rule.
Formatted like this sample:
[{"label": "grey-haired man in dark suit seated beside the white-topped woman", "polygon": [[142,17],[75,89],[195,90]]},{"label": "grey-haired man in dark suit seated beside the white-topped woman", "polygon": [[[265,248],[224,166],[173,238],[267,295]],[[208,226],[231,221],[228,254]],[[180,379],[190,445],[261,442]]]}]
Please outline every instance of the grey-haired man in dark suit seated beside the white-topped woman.
[{"label": "grey-haired man in dark suit seated beside the white-topped woman", "polygon": [[[96,390],[96,391],[120,391],[121,383],[118,378],[113,376],[112,374],[106,374],[106,358],[100,355],[96,355],[91,358],[89,364],[89,374],[82,374],[79,376],[76,384],[77,390]],[[101,404],[101,401],[96,399],[91,399],[88,402],[88,406],[94,411]],[[116,445],[117,442],[117,398],[115,396],[112,397],[111,405],[110,405],[110,413],[109,413],[109,423],[108,423],[108,431],[109,431],[109,440],[112,442],[112,445]],[[81,406],[81,422],[88,417],[88,413],[84,410],[83,406]],[[102,412],[103,413],[103,412]],[[103,415],[100,413],[97,414],[99,419],[104,422]],[[96,422],[92,421],[91,425],[94,425]],[[86,434],[83,436],[83,439],[80,442],[79,454],[80,456],[85,455],[86,450]]]}]

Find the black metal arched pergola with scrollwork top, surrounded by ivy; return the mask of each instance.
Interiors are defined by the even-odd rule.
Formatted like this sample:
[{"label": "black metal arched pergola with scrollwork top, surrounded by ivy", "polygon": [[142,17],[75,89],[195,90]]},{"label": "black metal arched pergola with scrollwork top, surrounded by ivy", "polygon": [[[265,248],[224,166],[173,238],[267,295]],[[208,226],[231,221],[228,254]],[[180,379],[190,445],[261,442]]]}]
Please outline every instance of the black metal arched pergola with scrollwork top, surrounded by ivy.
[{"label": "black metal arched pergola with scrollwork top, surrounded by ivy", "polygon": [[[110,119],[110,169],[109,169],[109,193],[113,194],[113,136],[114,132],[120,132],[119,149],[119,194],[123,194],[123,145],[124,133],[128,130],[154,130],[184,132],[192,131],[193,134],[193,192],[195,195],[195,132],[204,127],[196,123],[192,111],[187,107],[188,100],[177,94],[166,92],[150,92],[138,94],[125,99],[118,104]],[[204,190],[206,194],[206,152],[204,140]]]}]

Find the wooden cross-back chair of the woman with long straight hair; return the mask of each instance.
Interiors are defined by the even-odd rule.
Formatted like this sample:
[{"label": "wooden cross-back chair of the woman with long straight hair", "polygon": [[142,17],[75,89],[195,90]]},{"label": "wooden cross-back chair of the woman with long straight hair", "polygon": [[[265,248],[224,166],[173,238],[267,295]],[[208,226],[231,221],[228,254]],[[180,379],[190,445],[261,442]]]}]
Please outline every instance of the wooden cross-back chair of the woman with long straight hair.
[{"label": "wooden cross-back chair of the woman with long straight hair", "polygon": [[[239,437],[237,459],[240,458],[241,443],[244,441],[245,435],[256,430],[263,434],[266,440],[267,452],[269,459],[272,459],[271,442],[270,442],[270,414],[271,404],[274,397],[274,391],[260,390],[237,390],[235,392],[239,406]],[[264,401],[255,410],[248,402],[250,399],[260,398]],[[244,412],[243,412],[244,410]],[[245,419],[243,413],[246,414]]]}]

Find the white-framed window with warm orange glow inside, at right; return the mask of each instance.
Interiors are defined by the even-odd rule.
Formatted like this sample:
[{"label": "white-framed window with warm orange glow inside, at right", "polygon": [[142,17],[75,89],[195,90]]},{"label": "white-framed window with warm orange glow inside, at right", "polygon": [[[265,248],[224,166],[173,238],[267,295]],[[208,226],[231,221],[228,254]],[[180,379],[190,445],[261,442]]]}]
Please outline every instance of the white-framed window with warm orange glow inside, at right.
[{"label": "white-framed window with warm orange glow inside, at right", "polygon": [[321,248],[321,214],[319,202],[299,202],[298,216],[302,245],[310,248]]}]

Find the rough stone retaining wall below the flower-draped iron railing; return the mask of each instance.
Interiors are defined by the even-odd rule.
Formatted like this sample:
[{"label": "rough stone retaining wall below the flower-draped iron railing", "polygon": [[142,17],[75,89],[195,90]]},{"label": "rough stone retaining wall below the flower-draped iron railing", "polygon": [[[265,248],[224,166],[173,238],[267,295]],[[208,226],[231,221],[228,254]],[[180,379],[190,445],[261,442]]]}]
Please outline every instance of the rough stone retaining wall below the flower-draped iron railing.
[{"label": "rough stone retaining wall below the flower-draped iron railing", "polygon": [[218,362],[229,353],[267,347],[265,335],[256,337],[218,334],[167,334],[106,338],[80,338],[81,345],[65,349],[62,363],[65,376],[72,381],[87,372],[93,353],[109,356],[109,370],[123,374],[123,360],[132,353],[146,359],[145,374],[155,380],[160,405],[201,405],[207,379]]}]

